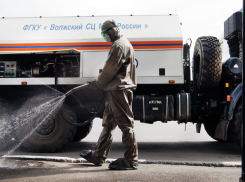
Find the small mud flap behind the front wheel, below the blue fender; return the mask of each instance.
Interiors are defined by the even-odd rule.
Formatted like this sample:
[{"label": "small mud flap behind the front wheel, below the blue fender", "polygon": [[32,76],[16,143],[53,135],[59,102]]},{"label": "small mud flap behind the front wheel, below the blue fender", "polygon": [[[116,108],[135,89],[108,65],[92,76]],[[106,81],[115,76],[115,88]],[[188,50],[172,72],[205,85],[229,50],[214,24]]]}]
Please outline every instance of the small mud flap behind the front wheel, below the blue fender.
[{"label": "small mud flap behind the front wheel, below the blue fender", "polygon": [[216,127],[214,138],[218,138],[218,139],[226,141],[229,123],[230,121],[228,120],[220,121]]}]

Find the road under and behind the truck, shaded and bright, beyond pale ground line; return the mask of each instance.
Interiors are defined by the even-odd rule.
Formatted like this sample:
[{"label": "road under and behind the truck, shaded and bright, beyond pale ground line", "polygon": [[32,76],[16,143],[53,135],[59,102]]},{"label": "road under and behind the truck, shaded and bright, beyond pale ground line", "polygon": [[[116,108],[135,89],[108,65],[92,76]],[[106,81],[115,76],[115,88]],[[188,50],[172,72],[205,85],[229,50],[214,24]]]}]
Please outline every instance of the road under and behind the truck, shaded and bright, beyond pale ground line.
[{"label": "road under and behind the truck, shaded and bright, beyond pale ground line", "polygon": [[[81,142],[70,143],[56,153],[29,153],[17,149],[13,155],[56,156],[79,158],[82,150],[93,149],[101,132],[101,120],[96,119],[91,133]],[[176,122],[153,125],[135,122],[139,159],[192,162],[241,162],[241,149],[234,143],[220,143],[210,138],[204,128],[195,132],[195,125]],[[108,158],[123,157],[121,131],[113,133],[114,140]],[[5,152],[0,151],[1,155]]]}]

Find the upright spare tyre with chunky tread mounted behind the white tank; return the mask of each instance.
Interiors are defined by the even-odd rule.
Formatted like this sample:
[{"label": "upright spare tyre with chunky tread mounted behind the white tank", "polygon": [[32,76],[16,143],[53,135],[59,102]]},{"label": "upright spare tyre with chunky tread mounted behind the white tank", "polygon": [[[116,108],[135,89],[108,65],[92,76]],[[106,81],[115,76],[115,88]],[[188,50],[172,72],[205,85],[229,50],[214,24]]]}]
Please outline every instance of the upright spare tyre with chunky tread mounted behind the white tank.
[{"label": "upright spare tyre with chunky tread mounted behind the white tank", "polygon": [[[192,64],[197,92],[209,93],[219,85],[222,72],[222,51],[216,37],[199,37],[196,41]],[[194,68],[196,69],[194,70]]]}]

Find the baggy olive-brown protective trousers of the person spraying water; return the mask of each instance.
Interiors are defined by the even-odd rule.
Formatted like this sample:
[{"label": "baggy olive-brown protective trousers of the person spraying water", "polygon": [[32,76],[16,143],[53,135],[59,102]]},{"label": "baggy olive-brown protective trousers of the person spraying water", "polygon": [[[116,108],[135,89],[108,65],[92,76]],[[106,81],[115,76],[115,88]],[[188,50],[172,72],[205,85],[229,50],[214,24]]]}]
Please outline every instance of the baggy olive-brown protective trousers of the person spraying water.
[{"label": "baggy olive-brown protective trousers of the person spraying water", "polygon": [[118,126],[122,131],[124,162],[138,163],[138,147],[134,134],[134,116],[132,112],[133,91],[131,89],[107,91],[103,130],[96,144],[94,155],[102,161],[108,156],[112,144],[112,132]]}]

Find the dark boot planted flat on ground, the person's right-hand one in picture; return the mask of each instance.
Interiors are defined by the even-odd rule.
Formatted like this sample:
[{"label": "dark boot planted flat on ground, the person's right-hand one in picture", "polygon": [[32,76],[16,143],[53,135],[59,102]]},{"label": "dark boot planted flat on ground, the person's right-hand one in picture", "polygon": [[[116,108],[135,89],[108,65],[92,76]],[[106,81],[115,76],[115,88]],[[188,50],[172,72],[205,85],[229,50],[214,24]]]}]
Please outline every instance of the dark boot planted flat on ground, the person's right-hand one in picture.
[{"label": "dark boot planted flat on ground, the person's right-hand one in picture", "polygon": [[113,170],[137,170],[138,163],[129,164],[125,158],[119,158],[110,163],[109,168]]}]

